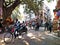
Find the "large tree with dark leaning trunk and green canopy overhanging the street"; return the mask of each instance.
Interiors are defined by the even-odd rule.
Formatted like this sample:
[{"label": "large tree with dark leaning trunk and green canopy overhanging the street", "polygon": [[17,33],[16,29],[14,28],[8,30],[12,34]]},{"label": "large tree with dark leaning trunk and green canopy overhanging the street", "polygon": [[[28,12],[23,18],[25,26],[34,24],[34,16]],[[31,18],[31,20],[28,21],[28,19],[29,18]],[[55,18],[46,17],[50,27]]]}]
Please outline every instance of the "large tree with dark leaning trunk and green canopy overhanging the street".
[{"label": "large tree with dark leaning trunk and green canopy overhanging the street", "polygon": [[42,0],[2,0],[3,2],[3,20],[5,20],[7,17],[11,16],[12,11],[19,5],[19,4],[26,4],[27,8],[32,10],[35,14],[39,14],[39,8],[38,4],[42,2]]}]

